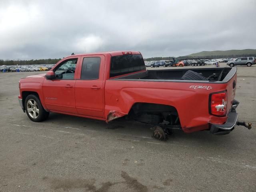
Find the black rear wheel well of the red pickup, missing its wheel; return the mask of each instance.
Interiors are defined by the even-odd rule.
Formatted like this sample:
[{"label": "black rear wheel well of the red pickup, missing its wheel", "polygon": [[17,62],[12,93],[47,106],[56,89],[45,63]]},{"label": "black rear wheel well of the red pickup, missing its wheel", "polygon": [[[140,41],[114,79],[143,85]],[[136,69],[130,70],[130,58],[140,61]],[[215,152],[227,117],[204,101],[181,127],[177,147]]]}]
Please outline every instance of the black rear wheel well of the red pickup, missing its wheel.
[{"label": "black rear wheel well of the red pickup, missing its wheel", "polygon": [[147,124],[160,124],[168,121],[180,125],[178,111],[174,106],[155,103],[135,103],[128,114],[129,118]]}]

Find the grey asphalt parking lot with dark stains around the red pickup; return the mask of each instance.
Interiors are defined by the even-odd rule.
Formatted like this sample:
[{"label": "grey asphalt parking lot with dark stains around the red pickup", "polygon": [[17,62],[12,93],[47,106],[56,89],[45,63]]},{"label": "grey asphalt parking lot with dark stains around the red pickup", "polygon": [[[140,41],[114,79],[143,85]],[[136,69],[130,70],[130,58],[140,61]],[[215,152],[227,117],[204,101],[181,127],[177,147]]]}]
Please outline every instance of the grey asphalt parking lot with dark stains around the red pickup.
[{"label": "grey asphalt parking lot with dark stains around the red pickup", "polygon": [[236,89],[239,119],[252,122],[251,130],[175,131],[166,142],[123,120],[107,126],[51,113],[30,121],[18,103],[18,80],[39,73],[0,73],[1,192],[256,191],[256,65],[238,66]]}]

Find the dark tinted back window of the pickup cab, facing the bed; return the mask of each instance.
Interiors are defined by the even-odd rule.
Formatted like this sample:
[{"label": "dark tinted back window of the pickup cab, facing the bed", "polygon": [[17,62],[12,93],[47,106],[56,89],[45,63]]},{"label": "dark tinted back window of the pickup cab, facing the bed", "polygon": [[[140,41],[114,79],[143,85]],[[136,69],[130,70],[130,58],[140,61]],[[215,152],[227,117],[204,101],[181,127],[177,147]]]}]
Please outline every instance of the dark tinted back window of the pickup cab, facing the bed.
[{"label": "dark tinted back window of the pickup cab, facing the bed", "polygon": [[110,78],[146,70],[141,54],[124,54],[112,56],[110,61]]}]

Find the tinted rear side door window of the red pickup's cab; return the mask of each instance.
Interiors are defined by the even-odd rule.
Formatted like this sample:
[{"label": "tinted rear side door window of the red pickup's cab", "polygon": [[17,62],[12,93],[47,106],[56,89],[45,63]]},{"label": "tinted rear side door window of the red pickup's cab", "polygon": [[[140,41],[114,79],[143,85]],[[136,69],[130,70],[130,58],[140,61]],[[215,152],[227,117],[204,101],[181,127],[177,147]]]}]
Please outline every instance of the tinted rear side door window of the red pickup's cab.
[{"label": "tinted rear side door window of the red pickup's cab", "polygon": [[99,78],[100,57],[85,57],[82,64],[81,79],[93,80]]}]

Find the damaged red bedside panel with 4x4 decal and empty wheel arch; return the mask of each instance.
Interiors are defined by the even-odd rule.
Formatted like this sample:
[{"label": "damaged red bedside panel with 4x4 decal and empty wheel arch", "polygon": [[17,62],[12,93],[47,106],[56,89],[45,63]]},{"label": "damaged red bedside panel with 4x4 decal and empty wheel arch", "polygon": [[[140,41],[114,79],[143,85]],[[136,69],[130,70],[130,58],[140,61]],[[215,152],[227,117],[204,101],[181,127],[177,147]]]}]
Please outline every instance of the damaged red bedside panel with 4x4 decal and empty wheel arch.
[{"label": "damaged red bedside panel with 4x4 decal and empty wheel arch", "polygon": [[[118,116],[124,116],[129,113],[133,104],[145,102],[175,107],[184,132],[208,129],[210,120],[208,96],[211,92],[226,89],[226,85],[215,86],[204,83],[204,86],[212,86],[211,90],[190,89],[190,86],[202,86],[202,84],[107,80],[105,86],[106,119],[113,120]],[[118,115],[113,117],[113,112]]]}]

